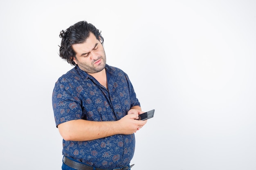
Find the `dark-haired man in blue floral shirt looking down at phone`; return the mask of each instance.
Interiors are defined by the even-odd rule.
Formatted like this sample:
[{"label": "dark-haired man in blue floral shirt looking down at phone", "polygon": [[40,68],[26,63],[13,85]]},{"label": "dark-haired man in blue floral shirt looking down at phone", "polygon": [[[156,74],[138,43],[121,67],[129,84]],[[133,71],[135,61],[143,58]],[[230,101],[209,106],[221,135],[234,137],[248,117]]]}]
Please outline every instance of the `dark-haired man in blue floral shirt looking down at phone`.
[{"label": "dark-haired man in blue floral shirt looking down at phone", "polygon": [[130,170],[134,132],[146,124],[128,75],[106,64],[103,37],[81,21],[61,31],[60,57],[74,65],[54,86],[63,170]]}]

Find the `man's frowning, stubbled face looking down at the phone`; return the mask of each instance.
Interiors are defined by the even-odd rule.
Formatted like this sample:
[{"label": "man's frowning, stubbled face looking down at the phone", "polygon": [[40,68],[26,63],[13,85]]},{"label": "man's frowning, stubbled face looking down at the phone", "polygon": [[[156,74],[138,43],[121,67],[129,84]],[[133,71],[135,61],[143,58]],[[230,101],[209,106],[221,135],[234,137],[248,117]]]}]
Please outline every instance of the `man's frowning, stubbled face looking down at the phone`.
[{"label": "man's frowning, stubbled face looking down at the phone", "polygon": [[104,48],[93,33],[90,33],[85,42],[73,44],[76,56],[73,61],[87,73],[98,73],[106,66],[106,54]]}]

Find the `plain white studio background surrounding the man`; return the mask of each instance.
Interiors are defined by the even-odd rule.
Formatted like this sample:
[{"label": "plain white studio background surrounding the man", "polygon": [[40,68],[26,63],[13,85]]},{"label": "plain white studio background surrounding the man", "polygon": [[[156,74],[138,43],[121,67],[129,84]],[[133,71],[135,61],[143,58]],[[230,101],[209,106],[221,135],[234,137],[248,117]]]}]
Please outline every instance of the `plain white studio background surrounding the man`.
[{"label": "plain white studio background surrounding the man", "polygon": [[102,31],[144,111],[132,170],[256,169],[254,0],[0,2],[0,167],[61,170],[52,90],[62,29]]}]

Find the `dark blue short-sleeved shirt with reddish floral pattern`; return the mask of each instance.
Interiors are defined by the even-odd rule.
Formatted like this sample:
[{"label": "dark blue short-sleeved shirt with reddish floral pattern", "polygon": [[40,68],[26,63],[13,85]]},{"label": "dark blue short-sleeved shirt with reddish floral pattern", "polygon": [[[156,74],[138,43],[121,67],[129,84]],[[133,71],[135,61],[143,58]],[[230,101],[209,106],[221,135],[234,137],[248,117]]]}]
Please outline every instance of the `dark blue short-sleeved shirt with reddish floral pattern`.
[{"label": "dark blue short-sleeved shirt with reddish floral pattern", "polygon": [[[106,64],[108,89],[75,66],[54,86],[52,105],[56,126],[66,121],[117,121],[132,106],[140,106],[128,75]],[[65,141],[63,155],[97,168],[127,166],[135,151],[135,135],[113,135],[91,141]]]}]

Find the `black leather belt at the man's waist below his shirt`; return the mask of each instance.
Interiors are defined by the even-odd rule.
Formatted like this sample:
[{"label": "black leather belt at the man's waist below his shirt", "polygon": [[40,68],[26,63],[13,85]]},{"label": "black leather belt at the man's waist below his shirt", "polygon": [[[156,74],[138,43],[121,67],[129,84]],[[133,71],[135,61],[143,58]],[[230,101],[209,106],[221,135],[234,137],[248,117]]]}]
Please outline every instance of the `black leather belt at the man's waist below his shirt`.
[{"label": "black leather belt at the man's waist below his shirt", "polygon": [[[92,166],[88,166],[83,163],[72,161],[71,159],[68,159],[67,157],[63,157],[63,163],[65,163],[67,166],[74,168],[76,170],[93,170]],[[123,168],[115,168],[112,170],[128,170],[129,168],[132,168],[132,166],[134,166],[134,164],[131,166],[125,166]],[[106,170],[106,169],[96,168],[96,170]],[[108,169],[108,170],[110,170],[110,169]]]}]

